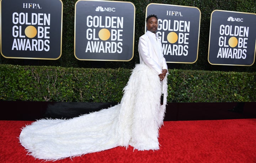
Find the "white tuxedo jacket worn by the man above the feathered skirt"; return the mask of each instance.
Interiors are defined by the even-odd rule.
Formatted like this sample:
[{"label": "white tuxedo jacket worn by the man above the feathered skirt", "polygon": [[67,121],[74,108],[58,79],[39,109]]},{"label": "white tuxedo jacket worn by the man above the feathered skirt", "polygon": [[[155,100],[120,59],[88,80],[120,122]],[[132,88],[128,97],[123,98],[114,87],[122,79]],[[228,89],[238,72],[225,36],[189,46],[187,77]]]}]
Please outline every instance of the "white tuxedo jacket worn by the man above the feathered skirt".
[{"label": "white tuxedo jacket worn by the man above the feathered skirt", "polygon": [[[153,39],[157,39],[157,44],[160,46],[157,46]],[[161,47],[160,53],[160,49],[157,49],[157,47]],[[164,55],[162,54],[161,40],[156,38],[154,33],[147,31],[139,38],[138,50],[140,64],[148,65],[151,69],[155,70],[158,75],[162,73],[162,69],[168,71]]]}]

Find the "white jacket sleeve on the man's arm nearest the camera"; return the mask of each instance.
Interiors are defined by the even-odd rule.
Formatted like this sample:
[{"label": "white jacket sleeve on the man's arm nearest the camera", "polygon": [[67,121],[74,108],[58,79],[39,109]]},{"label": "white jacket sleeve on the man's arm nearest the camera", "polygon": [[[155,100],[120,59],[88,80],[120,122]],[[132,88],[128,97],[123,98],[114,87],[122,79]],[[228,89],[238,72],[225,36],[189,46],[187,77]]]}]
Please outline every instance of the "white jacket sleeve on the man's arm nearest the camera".
[{"label": "white jacket sleeve on the man's arm nearest the camera", "polygon": [[[139,55],[144,61],[146,65],[148,65],[151,69],[155,70],[158,75],[161,74],[162,68],[158,65],[158,63],[150,56],[150,51],[148,49],[149,41],[146,40],[147,37],[140,37],[139,38],[139,44],[138,44],[138,50]],[[164,62],[166,64],[166,62]]]}]

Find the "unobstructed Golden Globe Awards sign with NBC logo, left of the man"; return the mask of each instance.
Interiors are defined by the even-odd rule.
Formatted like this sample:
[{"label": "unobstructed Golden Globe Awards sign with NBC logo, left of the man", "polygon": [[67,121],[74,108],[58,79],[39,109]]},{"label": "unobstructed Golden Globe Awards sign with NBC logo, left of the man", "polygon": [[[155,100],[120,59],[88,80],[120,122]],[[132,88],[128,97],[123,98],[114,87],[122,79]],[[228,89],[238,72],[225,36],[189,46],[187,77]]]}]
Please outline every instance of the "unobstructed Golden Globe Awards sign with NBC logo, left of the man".
[{"label": "unobstructed Golden Globe Awards sign with NBC logo, left of the man", "polygon": [[75,57],[79,60],[131,60],[134,22],[135,6],[131,2],[77,1]]}]

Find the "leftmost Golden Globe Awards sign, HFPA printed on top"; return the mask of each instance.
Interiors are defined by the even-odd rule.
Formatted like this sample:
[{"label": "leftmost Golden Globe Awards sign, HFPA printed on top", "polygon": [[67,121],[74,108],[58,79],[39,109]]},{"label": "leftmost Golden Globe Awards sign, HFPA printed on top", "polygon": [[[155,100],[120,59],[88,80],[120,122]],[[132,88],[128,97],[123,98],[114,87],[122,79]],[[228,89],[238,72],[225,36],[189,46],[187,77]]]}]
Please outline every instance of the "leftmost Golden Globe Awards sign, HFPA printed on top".
[{"label": "leftmost Golden Globe Awards sign, HFPA printed on top", "polygon": [[1,54],[50,59],[62,53],[62,1],[1,0]]}]

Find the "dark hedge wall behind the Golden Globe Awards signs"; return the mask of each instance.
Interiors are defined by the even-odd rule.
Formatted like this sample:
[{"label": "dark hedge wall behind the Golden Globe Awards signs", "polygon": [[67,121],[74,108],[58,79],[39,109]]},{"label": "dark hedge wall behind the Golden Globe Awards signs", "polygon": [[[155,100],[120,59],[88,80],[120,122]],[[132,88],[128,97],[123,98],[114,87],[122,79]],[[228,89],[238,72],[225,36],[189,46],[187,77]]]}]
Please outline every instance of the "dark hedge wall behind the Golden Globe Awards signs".
[{"label": "dark hedge wall behind the Golden Globe Awards signs", "polygon": [[129,62],[119,61],[80,61],[74,56],[74,19],[75,3],[77,0],[62,0],[63,2],[63,41],[62,56],[58,60],[24,60],[6,59],[0,56],[1,64],[14,65],[46,65],[62,67],[85,67],[85,68],[126,68],[132,69],[139,63],[138,40],[144,34],[145,10],[150,3],[171,4],[197,7],[201,11],[201,24],[199,36],[198,60],[194,64],[168,64],[171,69],[192,70],[218,70],[218,71],[240,71],[255,72],[256,64],[252,66],[218,66],[208,63],[208,43],[210,30],[210,15],[213,10],[228,10],[238,12],[256,13],[255,0],[121,0],[130,1],[135,6],[135,42],[134,58]]}]

